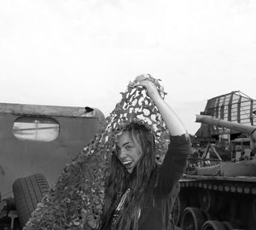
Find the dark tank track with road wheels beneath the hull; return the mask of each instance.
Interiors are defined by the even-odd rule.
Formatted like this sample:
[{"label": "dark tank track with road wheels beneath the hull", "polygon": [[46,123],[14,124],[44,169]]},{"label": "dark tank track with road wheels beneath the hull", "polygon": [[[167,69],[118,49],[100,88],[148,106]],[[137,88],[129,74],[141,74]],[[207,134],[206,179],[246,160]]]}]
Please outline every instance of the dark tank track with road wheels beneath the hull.
[{"label": "dark tank track with road wheels beneath the hull", "polygon": [[256,177],[184,175],[176,207],[176,224],[183,230],[255,230]]}]

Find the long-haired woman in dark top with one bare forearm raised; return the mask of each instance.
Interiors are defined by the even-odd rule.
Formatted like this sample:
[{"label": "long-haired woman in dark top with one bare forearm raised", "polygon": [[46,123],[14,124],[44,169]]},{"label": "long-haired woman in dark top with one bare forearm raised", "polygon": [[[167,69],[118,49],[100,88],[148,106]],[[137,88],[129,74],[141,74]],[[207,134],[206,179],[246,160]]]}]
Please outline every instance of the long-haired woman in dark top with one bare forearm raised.
[{"label": "long-haired woman in dark top with one bare forearm raised", "polygon": [[191,153],[189,136],[154,83],[143,75],[137,77],[133,85],[147,89],[166,123],[171,142],[163,164],[158,165],[150,129],[131,123],[120,130],[112,156],[100,229],[166,230],[170,229],[168,202],[171,194],[178,193],[177,183]]}]

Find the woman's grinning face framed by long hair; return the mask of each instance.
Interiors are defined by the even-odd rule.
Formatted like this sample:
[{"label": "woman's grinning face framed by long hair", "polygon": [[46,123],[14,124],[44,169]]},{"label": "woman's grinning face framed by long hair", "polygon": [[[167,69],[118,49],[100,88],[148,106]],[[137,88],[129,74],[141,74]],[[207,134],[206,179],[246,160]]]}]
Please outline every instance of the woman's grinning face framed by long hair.
[{"label": "woman's grinning face framed by long hair", "polygon": [[128,173],[132,173],[142,157],[142,151],[138,143],[132,141],[128,131],[119,135],[116,150],[120,162],[125,166]]}]

